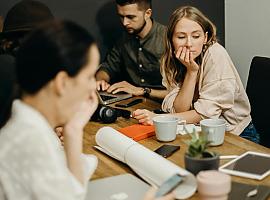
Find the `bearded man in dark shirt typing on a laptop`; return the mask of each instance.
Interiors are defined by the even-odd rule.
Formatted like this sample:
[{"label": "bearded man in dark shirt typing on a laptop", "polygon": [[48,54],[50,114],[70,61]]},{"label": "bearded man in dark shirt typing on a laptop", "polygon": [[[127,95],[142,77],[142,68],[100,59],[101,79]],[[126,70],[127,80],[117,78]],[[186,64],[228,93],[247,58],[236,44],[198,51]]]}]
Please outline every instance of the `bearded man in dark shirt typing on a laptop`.
[{"label": "bearded man in dark shirt typing on a laptop", "polygon": [[152,18],[151,0],[115,0],[125,29],[96,74],[97,90],[163,98],[160,59],[166,27]]}]

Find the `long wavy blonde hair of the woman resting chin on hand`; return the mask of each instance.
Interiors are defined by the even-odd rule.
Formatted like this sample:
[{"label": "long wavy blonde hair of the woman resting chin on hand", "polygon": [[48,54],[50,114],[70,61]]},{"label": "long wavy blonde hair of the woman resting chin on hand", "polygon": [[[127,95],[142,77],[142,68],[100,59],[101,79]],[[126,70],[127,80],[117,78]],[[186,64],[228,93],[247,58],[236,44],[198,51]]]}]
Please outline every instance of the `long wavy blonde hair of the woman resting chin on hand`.
[{"label": "long wavy blonde hair of the woman resting chin on hand", "polygon": [[203,52],[196,58],[196,62],[201,64],[204,52],[215,42],[216,38],[216,26],[197,8],[192,6],[184,6],[176,9],[169,20],[167,26],[167,33],[165,38],[165,52],[161,59],[161,71],[165,75],[167,86],[172,86],[183,81],[185,75],[185,68],[180,61],[174,57],[174,49],[172,45],[172,36],[176,24],[183,18],[190,19],[197,22],[203,29],[204,33],[207,33],[207,42],[204,45]]}]

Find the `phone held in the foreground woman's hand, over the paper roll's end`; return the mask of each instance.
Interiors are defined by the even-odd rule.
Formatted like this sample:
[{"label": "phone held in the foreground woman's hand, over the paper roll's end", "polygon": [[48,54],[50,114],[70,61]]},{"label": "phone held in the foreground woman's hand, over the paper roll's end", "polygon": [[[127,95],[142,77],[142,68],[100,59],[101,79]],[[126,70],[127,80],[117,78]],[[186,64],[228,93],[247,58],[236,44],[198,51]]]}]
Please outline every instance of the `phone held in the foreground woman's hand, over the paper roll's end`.
[{"label": "phone held in the foreground woman's hand, over the paper roll's end", "polygon": [[171,176],[168,180],[161,184],[155,194],[155,197],[159,198],[172,192],[181,182],[183,182],[183,180],[184,177],[179,174]]}]

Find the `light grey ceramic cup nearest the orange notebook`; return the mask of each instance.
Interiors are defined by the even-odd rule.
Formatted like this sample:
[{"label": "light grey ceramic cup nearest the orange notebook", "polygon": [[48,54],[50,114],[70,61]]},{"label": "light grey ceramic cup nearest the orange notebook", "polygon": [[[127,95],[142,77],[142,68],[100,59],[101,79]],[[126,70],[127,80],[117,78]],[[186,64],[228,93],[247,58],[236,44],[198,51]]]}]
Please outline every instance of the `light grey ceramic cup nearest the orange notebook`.
[{"label": "light grey ceramic cup nearest the orange notebook", "polygon": [[175,140],[177,133],[177,124],[180,121],[178,117],[171,115],[161,115],[153,118],[156,138],[162,142]]}]

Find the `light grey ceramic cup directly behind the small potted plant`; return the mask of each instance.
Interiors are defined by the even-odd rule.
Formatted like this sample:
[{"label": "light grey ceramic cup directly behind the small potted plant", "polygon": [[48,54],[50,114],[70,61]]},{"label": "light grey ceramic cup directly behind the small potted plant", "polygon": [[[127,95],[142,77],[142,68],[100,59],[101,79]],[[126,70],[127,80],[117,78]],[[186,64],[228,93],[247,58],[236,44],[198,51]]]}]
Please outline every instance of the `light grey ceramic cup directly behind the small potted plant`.
[{"label": "light grey ceramic cup directly behind the small potted plant", "polygon": [[224,142],[226,121],[224,119],[204,119],[200,121],[202,132],[211,141],[211,146],[221,145]]}]

